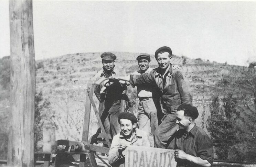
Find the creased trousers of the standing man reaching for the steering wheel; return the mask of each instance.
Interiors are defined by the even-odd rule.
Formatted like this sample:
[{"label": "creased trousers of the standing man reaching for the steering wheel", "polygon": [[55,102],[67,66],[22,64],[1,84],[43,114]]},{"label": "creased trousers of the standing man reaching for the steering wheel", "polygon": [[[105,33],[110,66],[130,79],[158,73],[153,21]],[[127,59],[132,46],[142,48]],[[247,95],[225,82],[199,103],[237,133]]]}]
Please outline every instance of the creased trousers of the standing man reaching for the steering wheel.
[{"label": "creased trousers of the standing man reaching for the steering wheel", "polygon": [[175,113],[167,113],[162,123],[154,131],[154,147],[166,148],[167,141],[179,129]]}]

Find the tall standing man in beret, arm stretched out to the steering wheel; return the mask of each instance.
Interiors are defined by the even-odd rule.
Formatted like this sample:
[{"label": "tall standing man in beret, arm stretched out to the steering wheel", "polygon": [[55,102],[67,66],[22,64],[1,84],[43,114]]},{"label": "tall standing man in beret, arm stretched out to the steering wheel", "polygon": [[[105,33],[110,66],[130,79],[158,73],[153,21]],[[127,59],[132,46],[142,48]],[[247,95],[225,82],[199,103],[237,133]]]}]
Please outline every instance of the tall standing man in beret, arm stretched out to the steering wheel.
[{"label": "tall standing man in beret, arm stretched out to the steering wheel", "polygon": [[[192,96],[190,86],[181,70],[172,69],[170,59],[172,50],[167,46],[160,47],[155,53],[159,67],[149,73],[130,75],[132,87],[156,84],[160,92],[161,109],[164,114],[162,123],[154,131],[154,144],[157,148],[165,148],[168,139],[176,132],[175,112],[182,103],[190,104]],[[118,79],[118,77],[116,77]],[[122,79],[122,77],[120,77]],[[124,78],[126,79],[126,78]]]}]

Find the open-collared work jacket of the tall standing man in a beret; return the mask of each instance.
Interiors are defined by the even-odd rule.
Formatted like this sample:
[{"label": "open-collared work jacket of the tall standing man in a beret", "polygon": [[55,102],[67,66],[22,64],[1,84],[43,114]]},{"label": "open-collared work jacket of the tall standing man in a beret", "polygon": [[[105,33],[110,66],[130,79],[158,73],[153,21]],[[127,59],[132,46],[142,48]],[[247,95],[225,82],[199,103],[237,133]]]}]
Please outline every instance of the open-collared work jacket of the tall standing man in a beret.
[{"label": "open-collared work jacket of the tall standing man in a beret", "polygon": [[[172,67],[172,64],[170,64],[170,67]],[[181,70],[169,68],[164,77],[162,77],[160,72],[161,68],[158,67],[149,73],[130,75],[130,84],[132,87],[156,84],[161,94],[160,102],[164,114],[176,112],[182,103],[191,104],[190,86]],[[163,81],[165,82],[164,84]]]}]

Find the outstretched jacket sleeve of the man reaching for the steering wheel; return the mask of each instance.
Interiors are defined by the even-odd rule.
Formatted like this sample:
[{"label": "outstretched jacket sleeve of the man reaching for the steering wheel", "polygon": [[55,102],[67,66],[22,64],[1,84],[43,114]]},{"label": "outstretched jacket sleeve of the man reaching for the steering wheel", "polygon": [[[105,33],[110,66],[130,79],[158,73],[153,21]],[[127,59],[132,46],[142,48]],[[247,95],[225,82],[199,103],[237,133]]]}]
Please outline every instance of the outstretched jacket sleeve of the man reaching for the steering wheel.
[{"label": "outstretched jacket sleeve of the man reaching for the steering wheel", "polygon": [[132,87],[143,84],[152,84],[153,82],[155,82],[154,76],[154,70],[150,71],[150,73],[144,73],[141,75],[130,75],[130,84]]}]

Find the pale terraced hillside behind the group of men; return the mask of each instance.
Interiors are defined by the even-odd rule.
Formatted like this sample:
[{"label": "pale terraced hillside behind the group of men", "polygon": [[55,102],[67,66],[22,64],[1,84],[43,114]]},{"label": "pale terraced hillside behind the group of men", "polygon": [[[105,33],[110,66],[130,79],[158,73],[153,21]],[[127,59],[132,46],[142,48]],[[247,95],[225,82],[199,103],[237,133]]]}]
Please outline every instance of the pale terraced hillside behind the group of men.
[{"label": "pale terraced hillside behind the group of men", "polygon": [[[139,69],[136,60],[139,53],[113,53],[117,56],[116,66],[124,67],[127,74]],[[54,120],[58,126],[56,140],[81,140],[87,84],[90,78],[102,69],[100,54],[76,53],[36,61],[36,91],[42,91],[44,98],[51,102],[51,109],[45,111],[45,114],[55,112]],[[151,55],[151,60],[151,67],[157,67],[153,55]],[[239,76],[241,71],[248,70],[247,67],[175,55],[171,62],[179,65],[190,81],[193,105],[198,107],[200,114],[196,123],[204,128],[210,114],[209,104],[212,96],[218,94],[223,97],[226,94],[218,86],[223,76]],[[128,90],[134,91],[131,87]],[[95,101],[97,102],[96,98]],[[7,100],[3,100],[0,106],[6,106],[7,103]],[[137,107],[135,106],[134,109],[136,110]],[[90,134],[94,133],[98,127],[93,113],[90,119],[90,125],[92,125]]]}]

